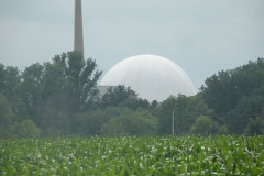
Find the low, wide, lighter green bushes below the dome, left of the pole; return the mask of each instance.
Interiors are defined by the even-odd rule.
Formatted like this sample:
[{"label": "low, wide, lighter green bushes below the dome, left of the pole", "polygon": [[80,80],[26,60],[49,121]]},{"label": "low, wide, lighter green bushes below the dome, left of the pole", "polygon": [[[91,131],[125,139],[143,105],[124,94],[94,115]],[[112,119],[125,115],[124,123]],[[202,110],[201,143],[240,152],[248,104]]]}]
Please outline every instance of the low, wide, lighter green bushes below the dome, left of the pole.
[{"label": "low, wide, lighter green bushes below the dome, left of the pole", "polygon": [[156,119],[145,109],[131,110],[121,107],[108,107],[80,114],[76,118],[76,133],[80,135],[153,135],[156,132]]}]

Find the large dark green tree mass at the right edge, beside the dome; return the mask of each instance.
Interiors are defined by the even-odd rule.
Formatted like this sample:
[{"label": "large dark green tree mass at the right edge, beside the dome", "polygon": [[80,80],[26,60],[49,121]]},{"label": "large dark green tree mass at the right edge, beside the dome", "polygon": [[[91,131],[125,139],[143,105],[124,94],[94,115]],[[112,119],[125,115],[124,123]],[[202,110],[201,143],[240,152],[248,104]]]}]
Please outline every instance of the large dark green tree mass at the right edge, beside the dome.
[{"label": "large dark green tree mass at the right edge, beside the dome", "polygon": [[231,133],[241,134],[250,118],[264,113],[264,58],[207,78],[200,90]]}]

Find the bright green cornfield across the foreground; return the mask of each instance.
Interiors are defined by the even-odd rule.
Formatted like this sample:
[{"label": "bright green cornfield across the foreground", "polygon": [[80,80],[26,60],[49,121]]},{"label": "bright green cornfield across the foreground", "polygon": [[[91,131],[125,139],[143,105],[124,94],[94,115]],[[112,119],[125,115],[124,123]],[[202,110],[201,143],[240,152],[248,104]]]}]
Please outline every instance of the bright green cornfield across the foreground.
[{"label": "bright green cornfield across the foreground", "polygon": [[0,141],[0,175],[264,175],[264,136]]}]

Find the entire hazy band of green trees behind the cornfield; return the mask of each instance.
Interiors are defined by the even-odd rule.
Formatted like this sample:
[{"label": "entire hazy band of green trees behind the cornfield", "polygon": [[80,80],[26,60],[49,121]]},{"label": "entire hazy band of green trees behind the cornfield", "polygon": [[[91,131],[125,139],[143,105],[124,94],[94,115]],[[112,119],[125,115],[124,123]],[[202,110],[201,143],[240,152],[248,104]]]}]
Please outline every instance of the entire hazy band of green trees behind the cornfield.
[{"label": "entire hazy band of green trees behind the cornfield", "polygon": [[[0,138],[263,134],[264,58],[207,78],[195,96],[148,102],[119,85],[99,96],[96,61],[56,55],[24,72],[0,64]],[[158,94],[158,92],[157,92]]]}]

